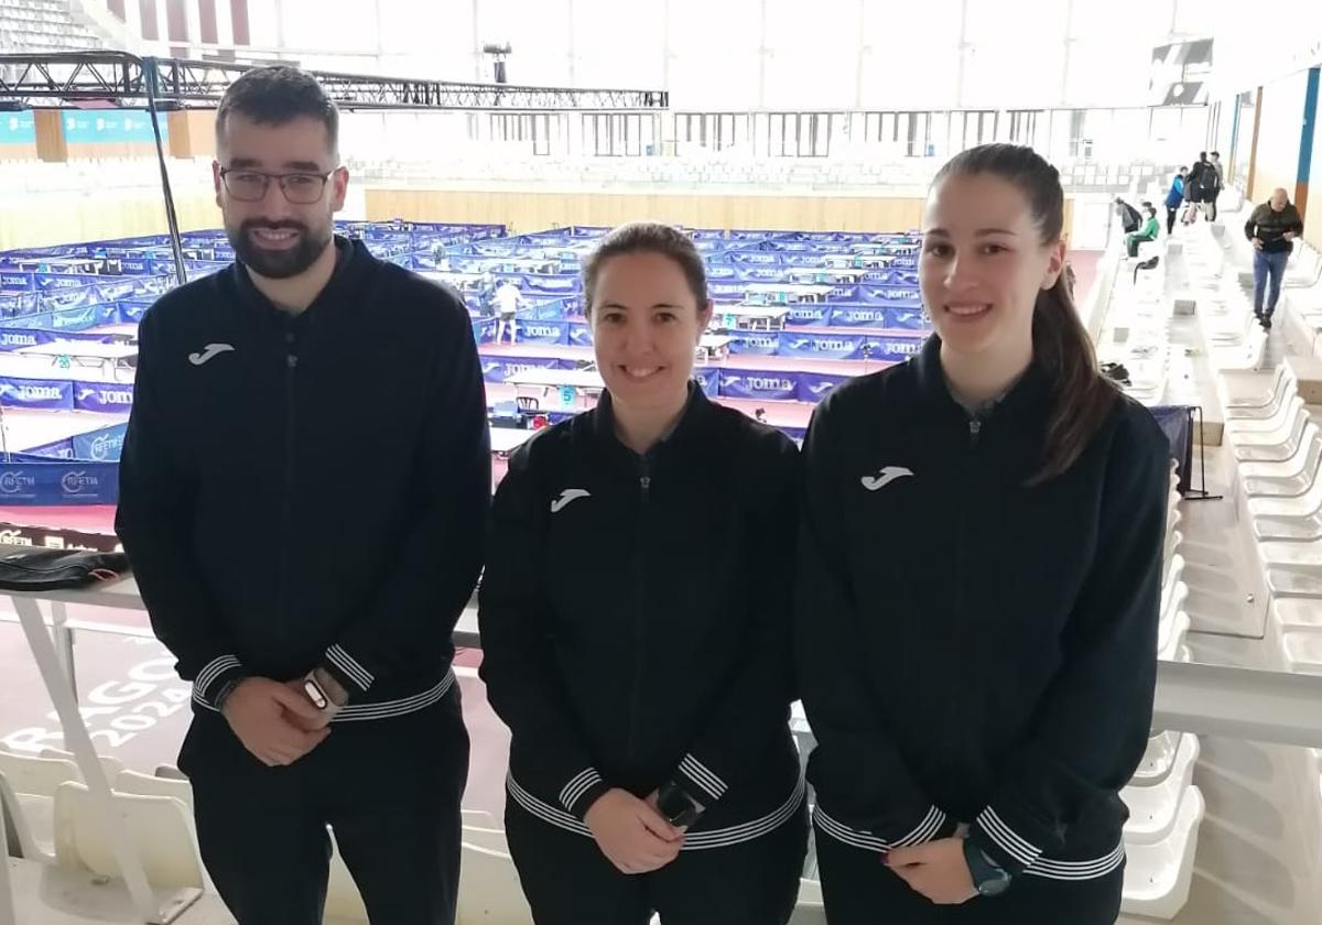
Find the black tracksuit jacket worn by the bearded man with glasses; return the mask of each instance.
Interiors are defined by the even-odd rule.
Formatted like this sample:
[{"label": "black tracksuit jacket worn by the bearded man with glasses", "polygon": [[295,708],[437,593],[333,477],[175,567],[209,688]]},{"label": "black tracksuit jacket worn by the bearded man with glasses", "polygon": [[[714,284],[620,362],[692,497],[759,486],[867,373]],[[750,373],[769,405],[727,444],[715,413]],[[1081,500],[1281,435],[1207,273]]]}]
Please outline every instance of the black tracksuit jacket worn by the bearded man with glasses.
[{"label": "black tracksuit jacket worn by the bearded man with glasses", "polygon": [[143,317],[115,526],[194,710],[319,665],[350,691],[336,722],[453,683],[490,492],[468,313],[362,242],[334,246],[296,317],[238,263]]}]

